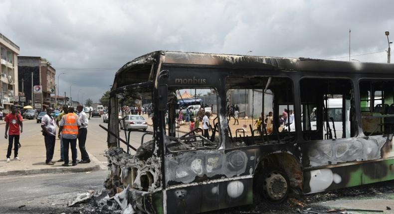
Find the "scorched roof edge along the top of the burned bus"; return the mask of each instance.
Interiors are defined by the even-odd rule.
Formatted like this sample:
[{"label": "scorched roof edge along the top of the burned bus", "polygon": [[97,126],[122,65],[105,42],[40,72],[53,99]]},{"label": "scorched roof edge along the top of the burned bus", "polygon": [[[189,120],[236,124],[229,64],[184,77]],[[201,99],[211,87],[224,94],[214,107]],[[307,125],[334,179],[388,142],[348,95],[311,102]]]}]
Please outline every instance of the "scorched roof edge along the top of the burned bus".
[{"label": "scorched roof edge along the top of the burned bus", "polygon": [[290,71],[393,73],[394,65],[388,63],[364,63],[310,58],[285,58],[245,56],[234,54],[209,54],[197,52],[155,51],[126,63],[117,73],[137,65],[152,64],[163,56],[163,64],[201,65],[230,68],[271,68]]}]

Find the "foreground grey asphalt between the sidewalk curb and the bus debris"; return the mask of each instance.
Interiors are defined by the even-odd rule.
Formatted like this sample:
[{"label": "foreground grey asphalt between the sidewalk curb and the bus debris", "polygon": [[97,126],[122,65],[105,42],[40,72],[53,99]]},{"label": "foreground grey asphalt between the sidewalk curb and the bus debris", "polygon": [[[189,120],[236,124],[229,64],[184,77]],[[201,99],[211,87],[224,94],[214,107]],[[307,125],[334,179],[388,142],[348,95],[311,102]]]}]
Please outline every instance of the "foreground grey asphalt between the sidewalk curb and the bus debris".
[{"label": "foreground grey asphalt between the sidewalk curb and the bus debris", "polygon": [[67,207],[68,201],[74,200],[77,194],[101,189],[106,175],[107,171],[101,170],[0,177],[0,213],[72,213],[75,209]]}]

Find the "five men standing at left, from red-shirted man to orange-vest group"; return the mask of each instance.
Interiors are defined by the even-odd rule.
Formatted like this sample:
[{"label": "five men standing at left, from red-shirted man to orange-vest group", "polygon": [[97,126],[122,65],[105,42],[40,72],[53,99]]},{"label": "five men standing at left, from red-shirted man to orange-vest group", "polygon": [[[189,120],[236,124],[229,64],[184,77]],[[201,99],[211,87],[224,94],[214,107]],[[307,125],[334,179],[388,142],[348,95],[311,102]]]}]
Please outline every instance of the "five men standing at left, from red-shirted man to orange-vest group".
[{"label": "five men standing at left, from red-shirted man to orange-vest group", "polygon": [[[18,157],[18,148],[20,147],[19,135],[23,132],[22,116],[18,113],[15,106],[11,106],[10,109],[11,113],[7,114],[4,119],[6,122],[4,138],[8,138],[6,162],[10,162],[12,146],[14,147],[14,160],[20,160]],[[60,159],[57,162],[64,162],[62,166],[69,166],[68,150],[71,147],[72,166],[77,165],[77,162],[90,163],[85,147],[89,122],[83,106],[77,106],[77,111],[75,112],[74,107],[64,105],[63,112],[57,118],[52,116],[53,110],[53,108],[48,107],[46,114],[41,118],[41,131],[44,136],[46,149],[45,164],[55,164],[52,158],[56,141],[56,126],[59,127],[57,136],[60,138]],[[80,161],[77,160],[77,139],[81,152]]]}]

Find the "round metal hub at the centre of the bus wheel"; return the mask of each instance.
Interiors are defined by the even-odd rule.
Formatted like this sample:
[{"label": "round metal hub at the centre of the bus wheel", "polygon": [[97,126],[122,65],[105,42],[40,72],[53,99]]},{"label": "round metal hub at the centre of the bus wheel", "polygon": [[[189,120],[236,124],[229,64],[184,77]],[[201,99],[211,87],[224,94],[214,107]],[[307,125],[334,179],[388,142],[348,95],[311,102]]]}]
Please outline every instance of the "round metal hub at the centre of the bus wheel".
[{"label": "round metal hub at the centre of the bus wheel", "polygon": [[286,179],[278,172],[271,172],[265,179],[267,196],[272,200],[280,200],[286,196]]}]

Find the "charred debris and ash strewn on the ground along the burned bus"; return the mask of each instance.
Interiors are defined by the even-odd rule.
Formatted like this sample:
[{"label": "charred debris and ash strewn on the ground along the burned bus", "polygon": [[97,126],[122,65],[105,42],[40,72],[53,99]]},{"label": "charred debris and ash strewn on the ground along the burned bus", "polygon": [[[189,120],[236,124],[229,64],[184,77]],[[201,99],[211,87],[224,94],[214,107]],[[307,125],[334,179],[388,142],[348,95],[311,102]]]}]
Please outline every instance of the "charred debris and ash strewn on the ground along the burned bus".
[{"label": "charred debris and ash strewn on the ground along the burned bus", "polygon": [[[270,204],[258,196],[252,205],[236,208],[224,209],[207,214],[352,214],[352,213],[383,213],[384,210],[352,210],[352,209],[332,209],[317,206],[316,203],[333,201],[337,199],[371,199],[390,198],[394,194],[394,181],[383,182],[372,185],[364,185],[354,188],[347,188],[337,191],[318,193],[300,196],[293,193],[282,204]],[[83,214],[139,214],[131,204],[125,201],[127,188],[112,195],[106,189],[88,191],[79,195],[76,199],[70,200],[68,213]],[[386,210],[394,209],[390,205]]]}]

